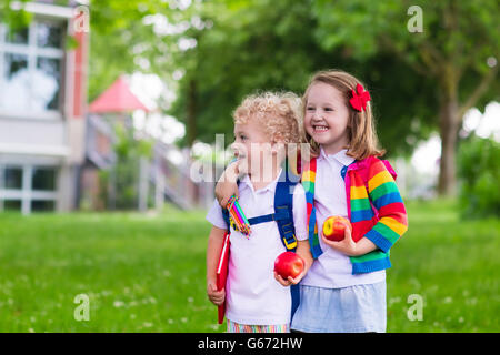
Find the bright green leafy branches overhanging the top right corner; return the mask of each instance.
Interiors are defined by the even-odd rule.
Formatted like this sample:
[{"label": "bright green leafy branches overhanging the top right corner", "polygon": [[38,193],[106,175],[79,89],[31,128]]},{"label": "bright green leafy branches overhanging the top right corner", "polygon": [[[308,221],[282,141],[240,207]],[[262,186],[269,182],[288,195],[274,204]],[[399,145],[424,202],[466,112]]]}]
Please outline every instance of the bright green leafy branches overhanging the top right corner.
[{"label": "bright green leafy branches overhanging the top right corner", "polygon": [[[407,11],[412,4],[422,9],[422,32],[407,29],[412,17]],[[432,72],[432,65],[444,62],[456,70],[470,67],[486,72],[489,70],[487,58],[499,54],[500,27],[492,16],[499,12],[499,2],[494,0],[422,0],[418,3],[318,0],[313,2],[313,12],[319,21],[316,34],[324,48],[348,43],[358,58],[370,58],[390,49],[402,60],[426,67],[429,75],[442,74]]]}]

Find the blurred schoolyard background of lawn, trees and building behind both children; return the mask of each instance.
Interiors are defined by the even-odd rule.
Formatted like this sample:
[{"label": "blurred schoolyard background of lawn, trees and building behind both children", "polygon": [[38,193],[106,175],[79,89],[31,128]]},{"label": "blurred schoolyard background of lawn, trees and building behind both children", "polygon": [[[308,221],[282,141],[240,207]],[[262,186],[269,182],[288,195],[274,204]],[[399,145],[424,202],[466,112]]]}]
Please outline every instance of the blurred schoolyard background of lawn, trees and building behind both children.
[{"label": "blurred schoolyard background of lawn, trees and building behind both children", "polygon": [[499,16],[496,0],[0,0],[0,331],[222,332],[204,213],[231,113],[334,68],[370,90],[409,210],[388,331],[499,332]]}]

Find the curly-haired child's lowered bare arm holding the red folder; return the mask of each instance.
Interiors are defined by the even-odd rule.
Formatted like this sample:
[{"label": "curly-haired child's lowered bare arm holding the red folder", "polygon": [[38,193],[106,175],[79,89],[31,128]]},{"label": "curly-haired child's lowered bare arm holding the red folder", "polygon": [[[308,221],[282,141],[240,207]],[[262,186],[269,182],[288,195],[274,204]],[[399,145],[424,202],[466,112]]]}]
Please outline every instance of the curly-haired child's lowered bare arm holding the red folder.
[{"label": "curly-haired child's lowered bare arm holding the red folder", "polygon": [[226,290],[217,291],[217,264],[224,235],[226,230],[212,226],[207,247],[207,294],[216,305],[221,305],[226,298]]}]

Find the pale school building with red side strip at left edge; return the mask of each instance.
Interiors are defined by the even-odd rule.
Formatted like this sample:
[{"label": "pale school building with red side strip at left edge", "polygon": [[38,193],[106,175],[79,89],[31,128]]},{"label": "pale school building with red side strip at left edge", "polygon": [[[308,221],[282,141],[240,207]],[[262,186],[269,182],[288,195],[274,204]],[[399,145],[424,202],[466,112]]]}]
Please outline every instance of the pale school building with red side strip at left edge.
[{"label": "pale school building with red side strip at left edge", "polygon": [[[12,2],[12,7],[19,3]],[[84,159],[88,33],[69,7],[33,1],[28,28],[0,23],[0,211],[74,207]],[[68,37],[78,43],[67,49]]]}]

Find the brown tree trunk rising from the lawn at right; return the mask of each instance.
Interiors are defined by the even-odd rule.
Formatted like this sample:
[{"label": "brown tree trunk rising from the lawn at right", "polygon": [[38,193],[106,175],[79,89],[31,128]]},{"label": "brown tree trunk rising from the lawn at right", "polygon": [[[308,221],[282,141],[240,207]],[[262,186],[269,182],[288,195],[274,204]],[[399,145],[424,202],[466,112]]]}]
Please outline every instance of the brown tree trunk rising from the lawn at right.
[{"label": "brown tree trunk rising from the lawn at right", "polygon": [[440,108],[441,160],[439,164],[438,193],[453,196],[457,192],[457,138],[460,129],[457,92],[446,95]]}]

